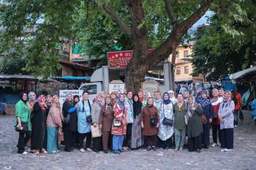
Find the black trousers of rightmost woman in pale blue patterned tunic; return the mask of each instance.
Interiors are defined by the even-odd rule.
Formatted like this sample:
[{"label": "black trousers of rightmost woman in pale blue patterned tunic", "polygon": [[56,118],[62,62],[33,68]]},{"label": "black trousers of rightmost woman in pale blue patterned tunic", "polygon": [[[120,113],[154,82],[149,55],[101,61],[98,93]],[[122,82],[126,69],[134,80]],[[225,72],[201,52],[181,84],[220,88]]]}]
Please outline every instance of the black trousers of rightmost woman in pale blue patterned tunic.
[{"label": "black trousers of rightmost woman in pale blue patterned tunic", "polygon": [[222,136],[222,148],[233,149],[234,144],[234,129],[224,128],[220,130]]}]

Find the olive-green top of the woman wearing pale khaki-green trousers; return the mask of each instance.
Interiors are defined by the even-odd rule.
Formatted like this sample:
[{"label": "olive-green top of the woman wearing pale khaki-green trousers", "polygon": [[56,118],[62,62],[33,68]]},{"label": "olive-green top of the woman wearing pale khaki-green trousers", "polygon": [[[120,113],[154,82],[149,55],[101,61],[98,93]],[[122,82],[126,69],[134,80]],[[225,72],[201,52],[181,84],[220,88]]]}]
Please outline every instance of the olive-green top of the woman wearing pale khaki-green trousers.
[{"label": "olive-green top of the woman wearing pale khaki-green trousers", "polygon": [[174,104],[173,106],[174,110],[174,128],[178,130],[186,130],[186,124],[185,124],[185,115],[187,112],[186,103],[184,102],[181,111],[178,111],[178,105]]}]

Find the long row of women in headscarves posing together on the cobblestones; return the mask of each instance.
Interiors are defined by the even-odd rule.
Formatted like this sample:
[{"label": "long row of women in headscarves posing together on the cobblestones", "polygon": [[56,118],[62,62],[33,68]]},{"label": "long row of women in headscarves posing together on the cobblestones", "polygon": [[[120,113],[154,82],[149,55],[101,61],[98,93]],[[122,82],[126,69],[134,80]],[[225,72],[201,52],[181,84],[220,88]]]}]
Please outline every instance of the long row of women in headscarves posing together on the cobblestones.
[{"label": "long row of women in headscarves posing together on the cobblestones", "polygon": [[[159,92],[142,91],[133,94],[100,92],[89,101],[89,94],[83,98],[68,94],[63,106],[58,96],[27,96],[22,93],[16,104],[15,128],[20,129],[18,153],[27,154],[25,146],[31,138],[31,152],[59,152],[58,136],[63,132],[65,151],[78,148],[80,152],[110,150],[115,154],[146,146],[175,151],[184,149],[185,136],[188,150],[200,152],[210,145],[210,126],[215,147],[221,143],[221,151],[233,150],[234,102],[230,92],[213,89],[213,98],[202,91],[195,98],[170,90],[161,97]],[[29,98],[29,100],[28,100]],[[21,131],[24,123],[27,131]],[[219,136],[219,142],[217,142]],[[92,143],[92,145],[91,145]]]}]

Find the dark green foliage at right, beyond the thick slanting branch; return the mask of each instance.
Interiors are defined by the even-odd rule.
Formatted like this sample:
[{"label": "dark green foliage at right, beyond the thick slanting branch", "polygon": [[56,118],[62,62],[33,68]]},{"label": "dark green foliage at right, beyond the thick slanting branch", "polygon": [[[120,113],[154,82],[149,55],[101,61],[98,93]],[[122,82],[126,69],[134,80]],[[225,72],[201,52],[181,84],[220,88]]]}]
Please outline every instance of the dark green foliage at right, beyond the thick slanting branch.
[{"label": "dark green foliage at right, beyond the thick slanting branch", "polygon": [[211,25],[197,32],[190,60],[195,66],[193,75],[204,74],[214,81],[256,63],[256,7],[251,1],[233,7],[237,13],[216,12]]}]

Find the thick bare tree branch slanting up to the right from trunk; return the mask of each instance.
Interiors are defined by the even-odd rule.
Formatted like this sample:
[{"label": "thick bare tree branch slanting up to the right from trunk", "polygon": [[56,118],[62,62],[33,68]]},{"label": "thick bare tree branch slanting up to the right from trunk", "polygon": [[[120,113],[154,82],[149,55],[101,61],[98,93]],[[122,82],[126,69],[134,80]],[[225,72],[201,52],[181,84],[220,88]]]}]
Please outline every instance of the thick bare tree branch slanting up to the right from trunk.
[{"label": "thick bare tree branch slanting up to the right from trunk", "polygon": [[[209,9],[213,0],[203,0],[200,4],[200,8],[197,9],[192,15],[184,20],[182,23],[176,24],[173,31],[165,39],[165,42],[157,47],[152,53],[148,54],[148,61],[152,61],[151,67],[157,65],[157,63],[164,61],[172,53],[173,49],[178,46],[181,38],[187,33],[188,29],[194,25]],[[151,69],[151,68],[150,68]]]}]

